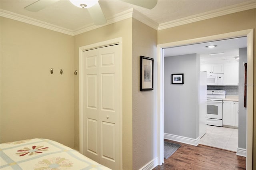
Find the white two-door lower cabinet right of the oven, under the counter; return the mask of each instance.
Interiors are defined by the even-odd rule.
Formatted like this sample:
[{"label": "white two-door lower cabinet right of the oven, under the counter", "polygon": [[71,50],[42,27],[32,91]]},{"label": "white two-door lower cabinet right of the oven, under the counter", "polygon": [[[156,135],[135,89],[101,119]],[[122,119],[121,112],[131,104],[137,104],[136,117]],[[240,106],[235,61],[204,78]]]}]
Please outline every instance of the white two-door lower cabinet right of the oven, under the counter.
[{"label": "white two-door lower cabinet right of the oven, under the counter", "polygon": [[238,127],[238,102],[223,101],[223,125]]}]

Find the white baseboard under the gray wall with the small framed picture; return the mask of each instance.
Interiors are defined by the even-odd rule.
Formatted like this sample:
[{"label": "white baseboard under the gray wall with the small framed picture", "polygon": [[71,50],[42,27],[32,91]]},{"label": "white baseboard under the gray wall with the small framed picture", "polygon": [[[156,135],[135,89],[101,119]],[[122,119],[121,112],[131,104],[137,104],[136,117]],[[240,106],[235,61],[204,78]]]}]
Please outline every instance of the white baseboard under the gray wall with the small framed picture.
[{"label": "white baseboard under the gray wall with the small framed picture", "polygon": [[193,139],[193,138],[188,138],[188,137],[184,137],[184,136],[178,136],[178,135],[174,135],[174,134],[164,133],[164,139],[174,140],[176,142],[182,142],[182,143],[198,146],[200,137]]}]

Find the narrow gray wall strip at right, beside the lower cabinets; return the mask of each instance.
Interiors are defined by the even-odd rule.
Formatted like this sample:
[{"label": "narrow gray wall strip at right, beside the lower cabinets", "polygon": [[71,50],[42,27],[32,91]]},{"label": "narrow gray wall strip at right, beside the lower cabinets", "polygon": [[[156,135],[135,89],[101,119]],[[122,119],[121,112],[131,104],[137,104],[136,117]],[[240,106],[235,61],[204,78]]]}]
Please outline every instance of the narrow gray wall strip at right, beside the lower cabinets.
[{"label": "narrow gray wall strip at right, beside the lower cabinets", "polygon": [[239,122],[238,122],[238,148],[246,149],[246,108],[244,108],[244,64],[247,62],[247,49],[239,49]]}]

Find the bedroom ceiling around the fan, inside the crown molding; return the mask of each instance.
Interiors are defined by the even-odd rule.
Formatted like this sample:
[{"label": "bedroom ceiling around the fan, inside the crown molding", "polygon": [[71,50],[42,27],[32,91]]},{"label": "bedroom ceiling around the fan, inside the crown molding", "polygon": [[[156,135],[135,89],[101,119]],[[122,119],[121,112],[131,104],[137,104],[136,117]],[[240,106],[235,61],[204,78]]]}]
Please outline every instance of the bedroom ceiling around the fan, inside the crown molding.
[{"label": "bedroom ceiling around the fan, inside the crown molding", "polygon": [[[16,18],[34,20],[43,24],[48,23],[58,29],[77,32],[80,29],[94,26],[87,9],[78,8],[68,0],[60,0],[38,12],[24,10],[24,7],[36,0],[0,0],[1,16],[16,15]],[[108,20],[113,20],[118,14],[134,8],[152,22],[161,25],[191,16],[204,16],[221,9],[237,7],[248,0],[158,0],[156,6],[149,10],[118,0],[99,0],[102,11]],[[255,2],[255,1],[254,1]],[[252,7],[251,7],[252,6]],[[247,8],[256,8],[248,4]],[[230,12],[232,13],[232,12]],[[5,14],[5,15],[3,15]],[[108,24],[107,23],[107,24]]]}]

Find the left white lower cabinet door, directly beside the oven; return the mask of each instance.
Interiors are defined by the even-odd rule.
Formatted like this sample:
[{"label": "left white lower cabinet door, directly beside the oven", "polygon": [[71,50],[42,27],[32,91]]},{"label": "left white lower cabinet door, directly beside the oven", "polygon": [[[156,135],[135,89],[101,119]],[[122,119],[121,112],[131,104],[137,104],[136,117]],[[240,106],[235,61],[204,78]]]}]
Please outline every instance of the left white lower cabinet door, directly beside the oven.
[{"label": "left white lower cabinet door, directly beside the oven", "polygon": [[223,101],[223,125],[233,126],[233,102]]}]

